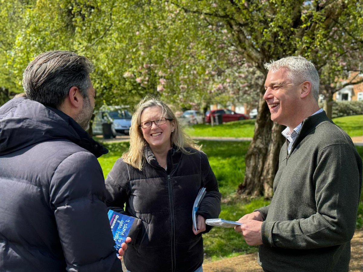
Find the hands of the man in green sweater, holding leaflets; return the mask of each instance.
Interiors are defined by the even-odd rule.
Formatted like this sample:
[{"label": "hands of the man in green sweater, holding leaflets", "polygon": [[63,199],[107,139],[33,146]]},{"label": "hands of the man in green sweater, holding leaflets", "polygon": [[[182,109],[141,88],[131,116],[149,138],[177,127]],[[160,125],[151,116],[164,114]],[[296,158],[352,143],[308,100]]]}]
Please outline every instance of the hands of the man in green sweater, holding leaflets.
[{"label": "hands of the man in green sweater, holding leaflets", "polygon": [[262,244],[261,239],[261,225],[263,218],[260,212],[255,211],[250,214],[246,214],[238,220],[241,222],[241,226],[234,227],[236,232],[241,232],[245,241],[250,246],[258,246]]}]

